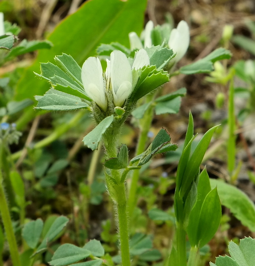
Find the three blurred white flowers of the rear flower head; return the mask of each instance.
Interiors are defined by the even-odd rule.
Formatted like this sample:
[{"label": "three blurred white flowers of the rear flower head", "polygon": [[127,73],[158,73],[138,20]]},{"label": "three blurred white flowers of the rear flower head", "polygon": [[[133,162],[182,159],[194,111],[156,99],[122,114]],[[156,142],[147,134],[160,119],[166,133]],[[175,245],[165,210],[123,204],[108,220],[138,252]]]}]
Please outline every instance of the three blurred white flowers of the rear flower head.
[{"label": "three blurred white flowers of the rear flower head", "polygon": [[[129,33],[129,40],[131,45],[131,50],[141,49],[145,47],[152,46],[151,33],[154,29],[154,24],[150,20],[147,22],[144,32],[143,39],[144,45],[141,42],[141,39],[137,36],[135,32]],[[173,52],[176,53],[174,62],[178,62],[184,54],[187,52],[187,49],[190,44],[190,31],[189,26],[186,21],[182,20],[177,25],[176,29],[172,29],[169,39],[166,40],[170,49],[173,49]]]}]

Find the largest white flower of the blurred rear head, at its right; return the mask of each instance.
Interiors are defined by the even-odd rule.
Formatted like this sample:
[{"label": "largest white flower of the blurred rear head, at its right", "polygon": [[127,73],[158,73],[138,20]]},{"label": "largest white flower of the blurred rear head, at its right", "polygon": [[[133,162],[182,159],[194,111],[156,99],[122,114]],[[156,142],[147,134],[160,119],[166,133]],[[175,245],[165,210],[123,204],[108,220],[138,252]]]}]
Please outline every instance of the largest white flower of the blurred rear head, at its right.
[{"label": "largest white flower of the blurred rear head, at its right", "polygon": [[168,40],[169,48],[173,49],[174,53],[176,53],[176,56],[174,57],[175,62],[178,62],[184,56],[184,54],[187,52],[189,44],[189,26],[186,21],[182,20],[177,25],[177,28],[171,31]]}]

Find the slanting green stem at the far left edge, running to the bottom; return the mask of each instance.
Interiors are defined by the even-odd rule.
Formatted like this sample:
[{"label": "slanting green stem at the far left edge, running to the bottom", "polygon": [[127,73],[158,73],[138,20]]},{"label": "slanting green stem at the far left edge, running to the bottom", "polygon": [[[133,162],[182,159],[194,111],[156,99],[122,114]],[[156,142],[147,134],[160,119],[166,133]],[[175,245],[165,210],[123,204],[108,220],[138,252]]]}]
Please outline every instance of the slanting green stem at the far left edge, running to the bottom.
[{"label": "slanting green stem at the far left edge, running to the bottom", "polygon": [[[0,143],[0,146],[3,146]],[[2,155],[2,151],[0,152]],[[1,156],[0,155],[0,156]],[[2,157],[2,156],[1,156]],[[3,188],[3,176],[2,176],[2,158],[0,157],[0,213],[2,216],[3,225],[5,228],[6,238],[9,244],[10,254],[12,258],[13,266],[21,266],[19,254],[18,254],[18,246],[15,239],[15,234],[12,228],[12,220],[7,204],[7,200],[5,198],[4,188]]]}]

